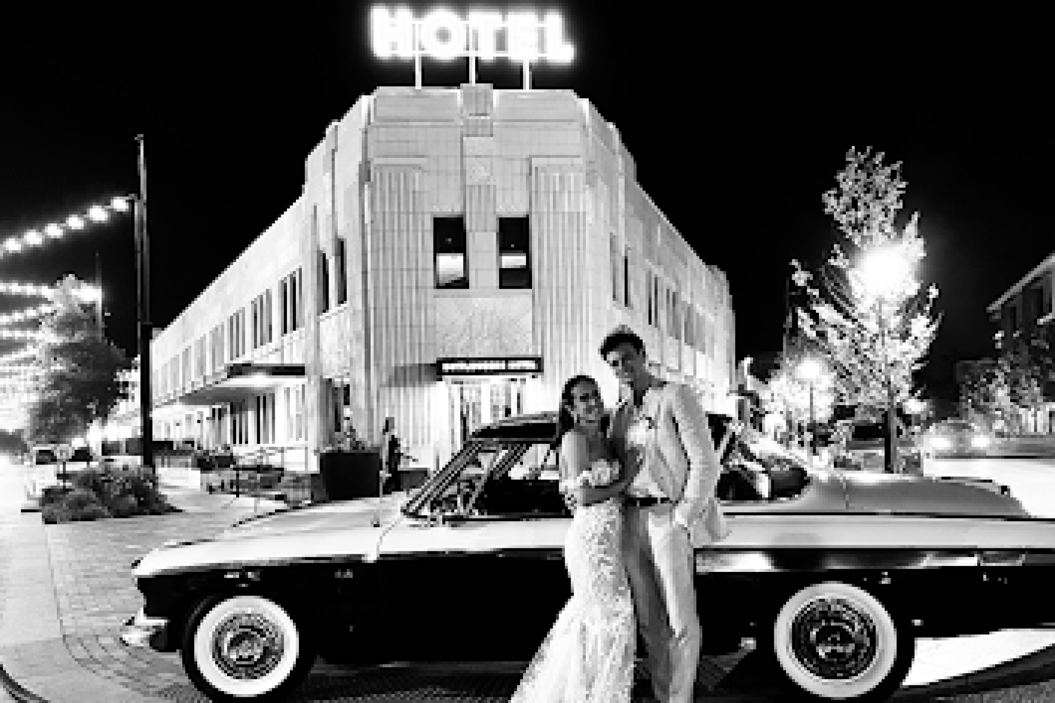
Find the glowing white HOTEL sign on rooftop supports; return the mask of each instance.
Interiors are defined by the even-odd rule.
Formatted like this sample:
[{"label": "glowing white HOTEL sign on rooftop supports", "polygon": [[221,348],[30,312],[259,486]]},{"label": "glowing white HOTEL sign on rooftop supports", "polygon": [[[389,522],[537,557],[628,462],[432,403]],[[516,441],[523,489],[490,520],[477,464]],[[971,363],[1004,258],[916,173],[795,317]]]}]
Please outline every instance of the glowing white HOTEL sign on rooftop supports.
[{"label": "glowing white HOTEL sign on rooftop supports", "polygon": [[524,69],[524,87],[531,87],[533,61],[567,63],[575,47],[564,41],[563,21],[556,13],[539,20],[535,13],[474,11],[465,18],[449,9],[434,9],[421,18],[409,9],[395,12],[375,6],[370,12],[370,42],[380,58],[414,59],[416,86],[421,87],[421,57],[468,57],[469,82],[476,82],[476,60],[505,58]]}]

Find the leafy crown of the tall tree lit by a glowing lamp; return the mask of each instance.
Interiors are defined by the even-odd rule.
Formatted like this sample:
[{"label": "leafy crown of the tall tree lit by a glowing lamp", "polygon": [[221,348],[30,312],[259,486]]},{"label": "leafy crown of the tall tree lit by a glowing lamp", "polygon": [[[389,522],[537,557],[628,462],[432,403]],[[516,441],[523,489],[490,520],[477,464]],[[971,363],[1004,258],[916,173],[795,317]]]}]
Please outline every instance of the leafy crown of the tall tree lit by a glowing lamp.
[{"label": "leafy crown of the tall tree lit by a glowing lamp", "polygon": [[938,289],[923,291],[914,273],[925,255],[918,216],[903,228],[896,222],[906,185],[901,164],[884,165],[870,149],[850,149],[846,161],[823,196],[840,231],[831,253],[816,275],[791,261],[795,321],[831,369],[838,402],[888,409],[912,397],[912,374],[940,321]]}]

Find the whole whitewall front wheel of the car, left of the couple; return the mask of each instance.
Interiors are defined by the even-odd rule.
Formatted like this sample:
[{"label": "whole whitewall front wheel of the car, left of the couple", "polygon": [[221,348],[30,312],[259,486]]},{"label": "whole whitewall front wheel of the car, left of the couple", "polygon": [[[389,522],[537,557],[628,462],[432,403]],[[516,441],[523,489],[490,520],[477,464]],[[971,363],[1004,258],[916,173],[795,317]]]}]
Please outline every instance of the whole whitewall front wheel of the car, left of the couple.
[{"label": "whole whitewall front wheel of the car, left of the couple", "polygon": [[187,676],[213,701],[281,699],[315,658],[289,611],[255,594],[200,603],[187,623],[180,657]]}]

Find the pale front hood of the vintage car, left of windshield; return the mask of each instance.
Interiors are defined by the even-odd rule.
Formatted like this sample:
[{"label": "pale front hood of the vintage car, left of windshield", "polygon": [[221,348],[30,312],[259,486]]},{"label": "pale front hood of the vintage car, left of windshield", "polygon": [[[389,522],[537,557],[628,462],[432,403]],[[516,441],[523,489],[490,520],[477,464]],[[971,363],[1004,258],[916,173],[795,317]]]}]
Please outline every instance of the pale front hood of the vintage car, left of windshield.
[{"label": "pale front hood of the vintage car, left of windshield", "polygon": [[[217,566],[376,558],[382,535],[403,520],[405,494],[343,501],[250,518],[215,538],[168,543],[133,568],[137,579]],[[380,516],[380,526],[375,526]]]}]

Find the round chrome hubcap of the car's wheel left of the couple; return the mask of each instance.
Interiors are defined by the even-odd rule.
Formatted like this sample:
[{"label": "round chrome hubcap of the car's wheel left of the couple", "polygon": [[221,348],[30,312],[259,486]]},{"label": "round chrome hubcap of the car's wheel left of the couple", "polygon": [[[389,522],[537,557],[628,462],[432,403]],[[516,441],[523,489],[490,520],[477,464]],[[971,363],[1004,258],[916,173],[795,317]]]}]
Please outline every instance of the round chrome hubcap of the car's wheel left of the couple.
[{"label": "round chrome hubcap of the car's wheel left of the couple", "polygon": [[212,638],[212,658],[232,679],[260,679],[282,660],[282,631],[258,612],[244,610],[225,618]]}]

